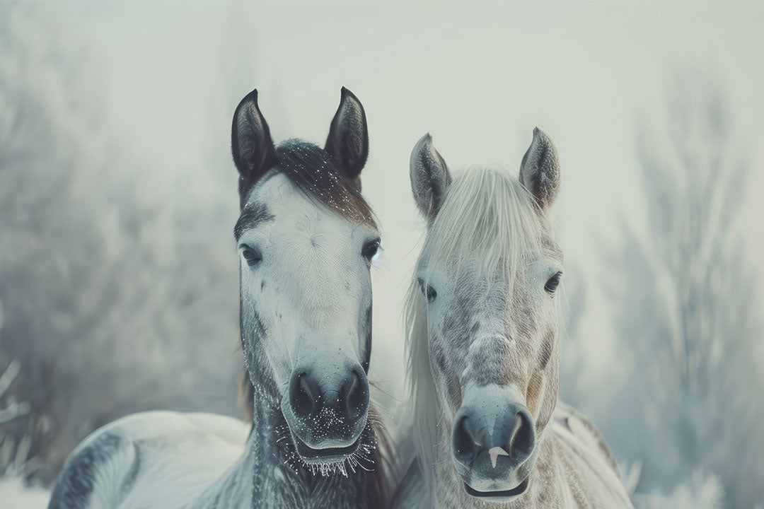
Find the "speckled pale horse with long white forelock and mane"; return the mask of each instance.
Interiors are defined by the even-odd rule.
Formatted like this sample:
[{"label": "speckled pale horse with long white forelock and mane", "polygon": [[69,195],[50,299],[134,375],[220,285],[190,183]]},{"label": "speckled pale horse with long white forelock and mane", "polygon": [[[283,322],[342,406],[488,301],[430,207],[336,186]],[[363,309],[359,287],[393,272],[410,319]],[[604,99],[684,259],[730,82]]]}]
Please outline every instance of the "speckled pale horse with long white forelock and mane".
[{"label": "speckled pale horse with long white forelock and mane", "polygon": [[519,180],[477,167],[452,179],[427,134],[410,172],[428,221],[406,308],[417,457],[394,504],[632,507],[601,434],[557,401],[552,140],[533,131]]}]

